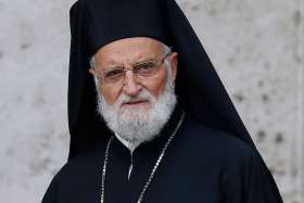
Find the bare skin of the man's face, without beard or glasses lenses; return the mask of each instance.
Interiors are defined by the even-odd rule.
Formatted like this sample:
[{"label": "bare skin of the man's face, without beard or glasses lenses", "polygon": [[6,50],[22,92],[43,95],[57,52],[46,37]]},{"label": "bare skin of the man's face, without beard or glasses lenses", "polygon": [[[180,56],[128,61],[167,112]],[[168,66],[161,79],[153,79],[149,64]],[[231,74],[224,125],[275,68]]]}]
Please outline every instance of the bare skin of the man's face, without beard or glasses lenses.
[{"label": "bare skin of the man's face, without beard or glasses lenses", "polygon": [[[161,61],[164,49],[160,41],[152,38],[136,37],[111,42],[102,47],[94,55],[96,69],[104,72],[113,67],[131,68],[130,64],[137,64],[148,60]],[[172,53],[167,60],[172,63],[173,80],[176,78],[177,53]],[[165,88],[166,71],[164,64],[157,74],[147,79],[137,79],[131,71],[126,72],[122,85],[107,85],[100,83],[99,88],[107,104],[114,104],[122,94],[136,98],[141,91],[149,91],[154,98],[159,98]],[[123,103],[121,107],[151,107],[149,101]]]}]

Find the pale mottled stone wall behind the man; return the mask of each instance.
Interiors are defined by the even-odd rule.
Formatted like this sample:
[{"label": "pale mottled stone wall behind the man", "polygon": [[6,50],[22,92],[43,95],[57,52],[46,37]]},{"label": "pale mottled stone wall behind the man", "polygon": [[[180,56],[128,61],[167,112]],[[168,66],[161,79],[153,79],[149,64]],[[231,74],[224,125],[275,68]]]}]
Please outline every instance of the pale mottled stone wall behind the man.
[{"label": "pale mottled stone wall behind the man", "polygon": [[[66,0],[0,0],[0,202],[40,202],[67,157]],[[303,0],[179,0],[286,203],[304,202]]]}]

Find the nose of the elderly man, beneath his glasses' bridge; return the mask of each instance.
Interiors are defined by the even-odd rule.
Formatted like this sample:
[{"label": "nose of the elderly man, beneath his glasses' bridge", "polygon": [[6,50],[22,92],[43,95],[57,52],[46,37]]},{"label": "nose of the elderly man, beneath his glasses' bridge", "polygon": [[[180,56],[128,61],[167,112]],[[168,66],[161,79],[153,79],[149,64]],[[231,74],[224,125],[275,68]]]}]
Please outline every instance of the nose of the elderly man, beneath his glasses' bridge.
[{"label": "nose of the elderly man, beneath his glasses' bridge", "polygon": [[141,90],[141,86],[136,80],[134,72],[127,71],[123,91],[128,96],[135,97],[140,92],[140,90]]}]

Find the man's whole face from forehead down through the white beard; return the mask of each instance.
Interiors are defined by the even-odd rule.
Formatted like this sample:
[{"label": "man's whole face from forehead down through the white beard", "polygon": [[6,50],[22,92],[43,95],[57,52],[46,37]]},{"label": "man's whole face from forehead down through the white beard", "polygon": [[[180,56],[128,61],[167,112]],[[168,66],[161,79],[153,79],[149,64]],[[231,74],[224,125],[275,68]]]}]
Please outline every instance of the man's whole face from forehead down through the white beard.
[{"label": "man's whole face from forehead down through the white beard", "polygon": [[[123,39],[98,51],[94,55],[94,69],[99,73],[117,66],[132,69],[134,66],[130,67],[129,64],[138,63],[141,63],[141,65],[137,65],[137,67],[144,67],[142,66],[143,61],[162,61],[164,55],[163,45],[154,39]],[[142,72],[137,72],[144,77],[136,77],[132,71],[127,71],[125,80],[118,79],[122,83],[106,84],[94,77],[98,87],[98,112],[112,131],[134,145],[155,138],[169,119],[176,105],[174,83],[177,53],[169,54],[165,64],[160,63],[160,68],[152,68],[156,72],[150,72],[151,68],[148,67],[156,67],[151,65],[141,68]],[[147,75],[147,69],[153,74]],[[90,72],[97,74],[92,69]],[[111,73],[117,76],[117,72]],[[115,81],[122,77],[110,78],[114,78]],[[107,77],[107,81],[113,80],[109,80]]]}]

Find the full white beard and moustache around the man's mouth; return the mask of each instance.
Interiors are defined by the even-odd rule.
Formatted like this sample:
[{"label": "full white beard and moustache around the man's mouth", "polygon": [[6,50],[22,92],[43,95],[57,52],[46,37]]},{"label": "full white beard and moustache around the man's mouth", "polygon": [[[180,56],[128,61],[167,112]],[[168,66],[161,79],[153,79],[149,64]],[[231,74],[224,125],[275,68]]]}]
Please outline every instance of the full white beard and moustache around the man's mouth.
[{"label": "full white beard and moustache around the man's mouth", "polygon": [[[103,94],[98,91],[98,112],[107,127],[135,148],[157,137],[175,109],[177,99],[170,69],[166,73],[164,92],[159,99],[147,89],[142,89],[137,97],[122,94],[114,104],[110,105]],[[121,107],[123,103],[135,100],[147,100],[151,106],[148,110],[142,106]]]}]

